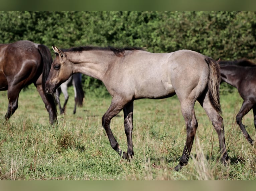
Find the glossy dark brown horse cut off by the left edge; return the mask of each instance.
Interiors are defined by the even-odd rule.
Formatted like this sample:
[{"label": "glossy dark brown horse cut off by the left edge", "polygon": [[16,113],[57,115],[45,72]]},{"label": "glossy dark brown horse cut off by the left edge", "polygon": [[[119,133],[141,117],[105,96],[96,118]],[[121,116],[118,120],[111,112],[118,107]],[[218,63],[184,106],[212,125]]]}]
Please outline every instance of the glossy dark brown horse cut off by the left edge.
[{"label": "glossy dark brown horse cut off by the left edge", "polygon": [[44,89],[51,63],[50,51],[44,45],[31,41],[0,44],[0,91],[7,90],[9,100],[6,119],[18,108],[21,89],[33,83],[49,113],[50,123],[56,121],[54,97],[46,94]]}]

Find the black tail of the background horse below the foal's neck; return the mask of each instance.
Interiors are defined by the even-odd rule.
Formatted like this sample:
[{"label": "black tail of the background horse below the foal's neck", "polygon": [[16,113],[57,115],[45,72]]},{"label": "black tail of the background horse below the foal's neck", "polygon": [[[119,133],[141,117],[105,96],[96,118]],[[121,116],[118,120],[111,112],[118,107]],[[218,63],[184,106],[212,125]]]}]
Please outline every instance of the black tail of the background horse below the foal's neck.
[{"label": "black tail of the background horse below the foal's neck", "polygon": [[75,86],[76,92],[77,92],[77,95],[75,96],[75,102],[78,104],[78,106],[82,107],[85,93],[84,93],[83,87],[82,87],[82,74],[81,73],[73,74],[73,83],[74,83],[73,85]]}]

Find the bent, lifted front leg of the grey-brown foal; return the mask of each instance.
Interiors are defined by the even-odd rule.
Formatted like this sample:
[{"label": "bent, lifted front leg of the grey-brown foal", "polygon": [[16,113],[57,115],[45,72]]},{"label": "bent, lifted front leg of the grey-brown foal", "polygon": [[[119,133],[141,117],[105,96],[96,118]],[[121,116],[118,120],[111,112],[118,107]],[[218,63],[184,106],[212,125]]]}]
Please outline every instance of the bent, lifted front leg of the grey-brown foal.
[{"label": "bent, lifted front leg of the grey-brown foal", "polygon": [[123,109],[123,107],[126,103],[127,102],[124,102],[124,100],[121,97],[114,96],[108,110],[102,117],[102,125],[108,135],[111,147],[124,159],[127,159],[127,154],[123,153],[118,142],[116,141],[116,139],[110,129],[110,121],[114,116],[116,116]]}]

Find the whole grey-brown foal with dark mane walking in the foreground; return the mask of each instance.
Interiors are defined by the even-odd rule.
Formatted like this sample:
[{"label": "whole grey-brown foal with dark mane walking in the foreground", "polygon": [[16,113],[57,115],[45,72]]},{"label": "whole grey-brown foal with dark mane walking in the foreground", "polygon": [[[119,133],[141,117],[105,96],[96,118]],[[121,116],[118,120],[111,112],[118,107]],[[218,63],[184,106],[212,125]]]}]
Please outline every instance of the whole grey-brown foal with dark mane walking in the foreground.
[{"label": "whole grey-brown foal with dark mane walking in the foreground", "polygon": [[[187,138],[179,164],[174,170],[188,163],[198,127],[194,105],[198,100],[217,131],[222,162],[226,163],[223,118],[220,115],[220,67],[213,59],[190,50],[156,54],[141,49],[115,49],[79,47],[56,53],[45,90],[53,94],[56,88],[74,73],[82,73],[101,80],[113,97],[102,125],[111,147],[124,159],[133,158],[133,101],[141,98],[160,99],[177,95],[186,122]],[[128,149],[123,152],[116,141],[110,121],[121,110]]]}]

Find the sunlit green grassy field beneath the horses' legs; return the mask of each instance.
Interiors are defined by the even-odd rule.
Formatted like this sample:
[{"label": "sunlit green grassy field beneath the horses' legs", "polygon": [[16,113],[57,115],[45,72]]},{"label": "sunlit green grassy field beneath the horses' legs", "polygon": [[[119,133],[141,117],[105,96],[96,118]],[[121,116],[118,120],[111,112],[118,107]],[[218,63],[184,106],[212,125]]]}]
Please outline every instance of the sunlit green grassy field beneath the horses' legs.
[{"label": "sunlit green grassy field beneath the horses' legs", "polygon": [[[85,97],[84,106],[73,114],[74,92],[58,127],[49,125],[48,113],[29,87],[19,96],[19,107],[5,122],[7,92],[0,92],[1,180],[256,180],[256,147],[250,145],[235,123],[242,99],[235,91],[222,95],[225,138],[230,163],[219,162],[219,141],[206,113],[196,103],[198,130],[188,165],[171,169],[182,154],[186,129],[176,96],[134,102],[134,159],[128,163],[111,148],[101,125],[111,97]],[[63,97],[61,97],[63,103]],[[253,114],[243,119],[256,139]],[[123,113],[111,121],[112,131],[127,149]]]}]

